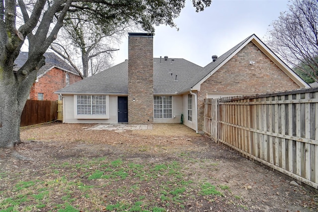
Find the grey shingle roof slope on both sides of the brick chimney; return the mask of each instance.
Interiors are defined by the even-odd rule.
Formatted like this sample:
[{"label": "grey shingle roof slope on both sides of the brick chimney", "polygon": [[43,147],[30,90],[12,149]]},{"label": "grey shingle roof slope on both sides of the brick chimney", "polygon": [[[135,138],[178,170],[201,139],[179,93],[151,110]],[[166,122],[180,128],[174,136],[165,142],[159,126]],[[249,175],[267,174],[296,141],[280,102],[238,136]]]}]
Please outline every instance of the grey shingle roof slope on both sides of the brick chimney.
[{"label": "grey shingle roof slope on both sides of the brick chimney", "polygon": [[[202,70],[201,66],[185,59],[168,58],[164,60],[162,58],[160,62],[160,58],[154,58],[154,94],[179,94],[184,85],[189,84],[191,78],[200,70]],[[128,60],[56,93],[128,94]]]}]

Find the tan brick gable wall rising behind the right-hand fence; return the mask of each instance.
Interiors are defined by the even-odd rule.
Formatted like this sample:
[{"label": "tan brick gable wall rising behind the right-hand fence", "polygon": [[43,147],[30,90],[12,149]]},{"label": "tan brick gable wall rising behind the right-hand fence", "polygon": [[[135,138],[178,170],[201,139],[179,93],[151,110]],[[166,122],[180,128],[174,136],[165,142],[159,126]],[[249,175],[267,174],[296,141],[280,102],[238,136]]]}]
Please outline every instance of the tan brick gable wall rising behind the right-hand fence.
[{"label": "tan brick gable wall rising behind the right-hand fence", "polygon": [[[255,62],[249,65],[249,62]],[[201,84],[198,92],[198,129],[203,130],[204,99],[207,93],[271,93],[299,89],[257,46],[248,43],[216,73]]]}]

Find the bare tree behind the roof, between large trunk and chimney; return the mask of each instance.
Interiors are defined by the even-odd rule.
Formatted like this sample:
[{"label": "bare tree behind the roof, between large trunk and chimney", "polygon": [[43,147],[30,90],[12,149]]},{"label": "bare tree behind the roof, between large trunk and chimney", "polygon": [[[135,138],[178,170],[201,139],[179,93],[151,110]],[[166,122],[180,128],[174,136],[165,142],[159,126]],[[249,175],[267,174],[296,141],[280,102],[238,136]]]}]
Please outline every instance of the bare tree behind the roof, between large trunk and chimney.
[{"label": "bare tree behind the roof, between large trunk and chimney", "polygon": [[[86,78],[89,69],[93,75],[111,66],[112,53],[119,50],[113,46],[127,34],[132,24],[112,21],[99,25],[93,16],[83,16],[85,14],[78,12],[67,17],[61,35],[52,43],[51,49],[69,61],[82,78]],[[80,66],[76,63],[79,58]]]}]

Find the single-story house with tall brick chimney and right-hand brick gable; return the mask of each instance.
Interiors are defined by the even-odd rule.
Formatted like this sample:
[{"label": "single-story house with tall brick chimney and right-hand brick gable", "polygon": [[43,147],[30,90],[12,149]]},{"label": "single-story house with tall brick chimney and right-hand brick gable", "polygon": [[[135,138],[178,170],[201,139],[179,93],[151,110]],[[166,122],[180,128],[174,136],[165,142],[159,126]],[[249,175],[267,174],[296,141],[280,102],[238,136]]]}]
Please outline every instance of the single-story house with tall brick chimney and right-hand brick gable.
[{"label": "single-story house with tall brick chimney and right-hand brick gable", "polygon": [[256,35],[202,68],[153,58],[153,36],[129,33],[128,60],[72,86],[63,95],[67,123],[179,123],[203,129],[204,99],[308,88]]}]

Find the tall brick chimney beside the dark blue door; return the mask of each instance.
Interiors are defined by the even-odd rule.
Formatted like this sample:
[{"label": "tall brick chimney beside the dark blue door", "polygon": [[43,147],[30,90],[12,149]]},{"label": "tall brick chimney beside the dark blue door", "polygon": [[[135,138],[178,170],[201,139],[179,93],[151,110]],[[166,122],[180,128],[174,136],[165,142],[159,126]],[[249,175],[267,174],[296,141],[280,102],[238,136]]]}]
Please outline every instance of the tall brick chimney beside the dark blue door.
[{"label": "tall brick chimney beside the dark blue door", "polygon": [[153,123],[153,35],[128,34],[128,122],[129,124]]}]

